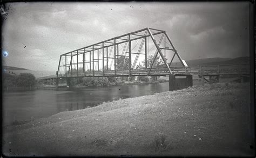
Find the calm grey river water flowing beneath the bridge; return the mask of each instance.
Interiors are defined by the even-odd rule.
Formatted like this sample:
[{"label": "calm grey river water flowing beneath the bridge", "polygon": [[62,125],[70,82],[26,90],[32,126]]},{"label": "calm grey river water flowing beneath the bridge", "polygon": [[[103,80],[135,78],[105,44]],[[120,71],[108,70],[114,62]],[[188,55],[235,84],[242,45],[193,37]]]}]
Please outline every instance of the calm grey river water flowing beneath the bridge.
[{"label": "calm grey river water flowing beneath the bridge", "polygon": [[152,95],[169,90],[169,82],[112,87],[35,90],[3,94],[3,123],[10,125],[33,119],[49,117],[62,111],[85,109],[119,98]]}]

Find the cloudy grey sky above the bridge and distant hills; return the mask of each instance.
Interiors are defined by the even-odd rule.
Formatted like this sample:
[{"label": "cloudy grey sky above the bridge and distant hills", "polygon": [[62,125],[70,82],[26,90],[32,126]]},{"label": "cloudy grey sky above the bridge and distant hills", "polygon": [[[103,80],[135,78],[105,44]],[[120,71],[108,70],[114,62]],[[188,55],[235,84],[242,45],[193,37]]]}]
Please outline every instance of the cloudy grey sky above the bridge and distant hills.
[{"label": "cloudy grey sky above the bridge and distant hills", "polygon": [[59,55],[145,27],[165,30],[181,58],[249,56],[249,4],[9,3],[7,66],[58,68]]}]

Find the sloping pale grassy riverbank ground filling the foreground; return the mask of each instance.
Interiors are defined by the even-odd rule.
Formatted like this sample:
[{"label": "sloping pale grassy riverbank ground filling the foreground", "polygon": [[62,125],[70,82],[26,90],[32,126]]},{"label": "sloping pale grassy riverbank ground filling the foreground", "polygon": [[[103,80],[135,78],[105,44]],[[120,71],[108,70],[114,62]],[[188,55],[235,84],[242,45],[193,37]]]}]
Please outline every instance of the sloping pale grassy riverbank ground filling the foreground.
[{"label": "sloping pale grassy riverbank ground filling the foreground", "polygon": [[253,156],[248,83],[127,98],[3,129],[7,156]]}]

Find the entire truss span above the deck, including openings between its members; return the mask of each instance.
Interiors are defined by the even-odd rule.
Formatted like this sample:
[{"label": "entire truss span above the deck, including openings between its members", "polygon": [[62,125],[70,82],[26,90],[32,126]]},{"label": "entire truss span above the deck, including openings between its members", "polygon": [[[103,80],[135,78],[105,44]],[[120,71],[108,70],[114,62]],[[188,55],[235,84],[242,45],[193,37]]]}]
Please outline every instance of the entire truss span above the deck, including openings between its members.
[{"label": "entire truss span above the deck, including openings between its members", "polygon": [[56,74],[57,78],[163,76],[173,74],[174,57],[187,66],[165,31],[143,28],[60,55]]}]

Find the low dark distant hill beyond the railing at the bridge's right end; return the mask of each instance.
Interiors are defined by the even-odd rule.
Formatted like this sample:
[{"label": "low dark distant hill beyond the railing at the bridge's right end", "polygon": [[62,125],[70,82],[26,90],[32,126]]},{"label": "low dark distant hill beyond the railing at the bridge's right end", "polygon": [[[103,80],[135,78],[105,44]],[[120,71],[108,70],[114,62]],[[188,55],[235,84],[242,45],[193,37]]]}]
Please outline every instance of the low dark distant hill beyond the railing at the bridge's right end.
[{"label": "low dark distant hill beyond the railing at the bridge's right end", "polygon": [[[240,64],[249,63],[250,57],[242,56],[239,58],[206,58],[196,60],[185,60],[188,66],[210,66],[218,64]],[[180,62],[173,62],[171,66],[182,66]]]}]

